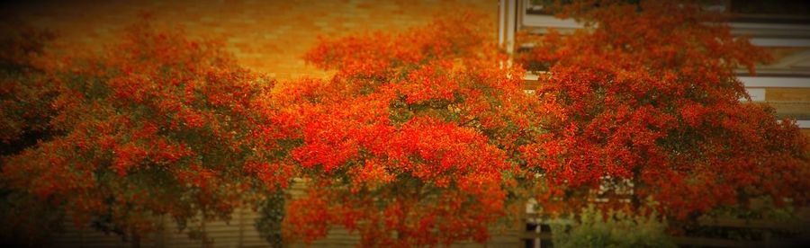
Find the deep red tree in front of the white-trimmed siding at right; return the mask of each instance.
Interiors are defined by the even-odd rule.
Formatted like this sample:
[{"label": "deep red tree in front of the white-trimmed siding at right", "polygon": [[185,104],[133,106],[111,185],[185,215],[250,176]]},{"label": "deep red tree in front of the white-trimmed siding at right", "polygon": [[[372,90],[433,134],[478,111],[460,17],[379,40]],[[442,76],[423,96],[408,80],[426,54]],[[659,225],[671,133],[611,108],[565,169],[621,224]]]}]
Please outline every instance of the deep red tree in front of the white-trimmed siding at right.
[{"label": "deep red tree in front of the white-trimmed siding at right", "polygon": [[[518,61],[540,74],[548,133],[524,146],[555,203],[645,199],[684,219],[769,197],[804,204],[808,142],[793,120],[752,104],[735,70],[755,74],[761,48],[697,2],[574,1],[585,29],[551,31]],[[610,205],[610,204],[608,204]]]}]

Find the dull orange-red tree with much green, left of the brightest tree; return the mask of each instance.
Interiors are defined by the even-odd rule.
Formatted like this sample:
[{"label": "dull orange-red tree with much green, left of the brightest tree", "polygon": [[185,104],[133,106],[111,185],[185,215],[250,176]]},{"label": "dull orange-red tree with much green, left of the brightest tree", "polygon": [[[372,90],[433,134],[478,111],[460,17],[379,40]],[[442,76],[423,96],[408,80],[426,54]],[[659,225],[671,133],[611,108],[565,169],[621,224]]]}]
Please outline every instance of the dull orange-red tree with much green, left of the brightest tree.
[{"label": "dull orange-red tree with much green, left of the brightest tree", "polygon": [[4,187],[135,244],[155,217],[228,218],[283,189],[293,168],[276,159],[274,82],[220,47],[143,21],[50,72],[55,135],[4,159]]}]

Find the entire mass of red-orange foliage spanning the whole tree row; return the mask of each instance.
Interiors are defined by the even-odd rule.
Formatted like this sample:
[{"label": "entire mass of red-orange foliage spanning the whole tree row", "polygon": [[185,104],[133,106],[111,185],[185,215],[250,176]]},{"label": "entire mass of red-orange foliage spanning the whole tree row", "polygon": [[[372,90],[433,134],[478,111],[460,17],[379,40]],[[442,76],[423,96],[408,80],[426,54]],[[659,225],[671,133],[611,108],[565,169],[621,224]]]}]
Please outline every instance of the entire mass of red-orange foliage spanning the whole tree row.
[{"label": "entire mass of red-orange foliage spanning the whole tree row", "polygon": [[[722,14],[661,1],[559,10],[585,29],[535,37],[517,63],[466,13],[320,40],[305,59],[330,78],[278,83],[219,42],[148,22],[60,59],[40,55],[48,32],[4,23],[0,210],[9,226],[67,213],[140,235],[156,217],[185,226],[247,206],[274,246],[342,226],[362,246],[410,247],[483,242],[528,197],[572,216],[653,201],[677,220],[753,198],[804,206],[807,138],[739,101],[735,70],[768,56]],[[523,65],[540,75],[534,93]],[[291,199],[293,178],[306,190]],[[670,244],[657,217],[586,209],[570,240]],[[637,225],[654,243],[606,231]]]}]

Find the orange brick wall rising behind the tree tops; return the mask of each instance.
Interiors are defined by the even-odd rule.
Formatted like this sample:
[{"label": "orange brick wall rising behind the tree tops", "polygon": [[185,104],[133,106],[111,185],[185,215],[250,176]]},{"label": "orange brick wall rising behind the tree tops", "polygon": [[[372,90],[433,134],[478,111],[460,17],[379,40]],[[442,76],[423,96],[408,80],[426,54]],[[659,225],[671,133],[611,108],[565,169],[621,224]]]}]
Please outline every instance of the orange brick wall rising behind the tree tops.
[{"label": "orange brick wall rising behind the tree tops", "polygon": [[[473,10],[497,25],[498,1],[372,0],[201,0],[201,1],[42,1],[5,6],[23,20],[57,31],[60,44],[94,49],[114,41],[122,27],[148,12],[153,22],[182,28],[192,36],[224,40],[249,68],[279,79],[324,76],[306,66],[302,55],[319,35],[353,31],[401,31],[438,14]],[[493,31],[493,38],[496,33]]]}]

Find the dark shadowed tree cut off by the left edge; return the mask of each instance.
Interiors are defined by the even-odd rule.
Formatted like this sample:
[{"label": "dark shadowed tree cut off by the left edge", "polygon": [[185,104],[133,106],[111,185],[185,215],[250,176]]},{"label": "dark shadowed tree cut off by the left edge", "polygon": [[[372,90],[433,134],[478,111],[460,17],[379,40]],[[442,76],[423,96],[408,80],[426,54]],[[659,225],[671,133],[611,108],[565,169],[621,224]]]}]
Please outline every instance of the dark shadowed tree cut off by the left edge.
[{"label": "dark shadowed tree cut off by the left edge", "polygon": [[[48,44],[55,38],[12,16],[0,18],[0,156],[14,155],[48,138],[53,111],[50,103],[56,90],[49,80]],[[0,157],[0,169],[4,167]],[[62,215],[47,205],[21,197],[20,192],[0,182],[0,245],[44,245],[47,233],[54,230]]]}]

